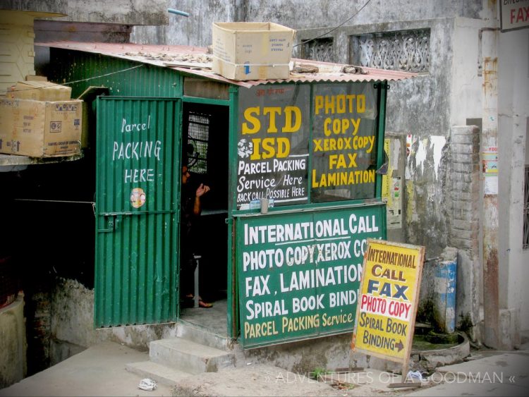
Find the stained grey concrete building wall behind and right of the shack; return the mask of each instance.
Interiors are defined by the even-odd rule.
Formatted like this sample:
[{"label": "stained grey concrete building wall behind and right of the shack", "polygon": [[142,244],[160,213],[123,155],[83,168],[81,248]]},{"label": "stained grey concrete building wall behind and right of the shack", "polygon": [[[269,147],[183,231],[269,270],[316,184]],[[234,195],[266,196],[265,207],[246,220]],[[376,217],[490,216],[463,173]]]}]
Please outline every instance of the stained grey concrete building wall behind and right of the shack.
[{"label": "stained grey concrete building wall behind and right of the shack", "polygon": [[[430,71],[412,80],[391,83],[387,130],[396,135],[412,135],[412,151],[406,159],[406,238],[425,245],[427,257],[435,257],[450,245],[451,203],[450,192],[445,190],[449,164],[448,157],[443,155],[447,151],[444,146],[449,142],[451,125],[464,125],[466,118],[475,117],[480,110],[479,99],[472,99],[479,98],[480,93],[476,78],[480,21],[474,18],[480,18],[484,11],[482,1],[397,3],[391,6],[371,1],[350,23],[328,36],[334,37],[335,61],[348,63],[351,35],[430,29]],[[169,6],[190,13],[190,17],[171,17],[168,27],[157,30],[134,28],[131,41],[165,38],[162,44],[207,46],[211,44],[213,21],[267,20],[298,30],[300,42],[343,23],[344,16],[352,16],[359,7],[339,0],[169,1]],[[464,90],[467,85],[472,89]],[[453,113],[451,109],[457,111]]]}]

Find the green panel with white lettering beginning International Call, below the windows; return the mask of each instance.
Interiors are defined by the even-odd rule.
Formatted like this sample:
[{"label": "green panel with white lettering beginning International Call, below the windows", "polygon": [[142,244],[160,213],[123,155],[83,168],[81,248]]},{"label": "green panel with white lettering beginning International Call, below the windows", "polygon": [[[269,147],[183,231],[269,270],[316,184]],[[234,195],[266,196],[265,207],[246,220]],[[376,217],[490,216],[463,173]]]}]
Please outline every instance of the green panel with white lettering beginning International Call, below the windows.
[{"label": "green panel with white lettering beginning International Call, below the windows", "polygon": [[353,330],[367,238],[385,238],[372,205],[236,219],[245,348]]}]

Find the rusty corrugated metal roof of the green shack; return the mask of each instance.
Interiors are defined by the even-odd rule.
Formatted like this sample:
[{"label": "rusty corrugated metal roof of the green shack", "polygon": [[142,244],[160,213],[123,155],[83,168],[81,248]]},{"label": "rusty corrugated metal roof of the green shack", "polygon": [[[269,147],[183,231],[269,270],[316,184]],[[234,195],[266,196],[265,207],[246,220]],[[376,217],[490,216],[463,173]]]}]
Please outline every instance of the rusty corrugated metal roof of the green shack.
[{"label": "rusty corrugated metal roof of the green shack", "polygon": [[363,82],[363,81],[394,81],[412,78],[417,73],[401,71],[388,71],[377,68],[355,67],[355,73],[344,72],[347,65],[309,61],[306,59],[292,59],[294,66],[306,68],[317,67],[316,73],[297,73],[291,71],[290,77],[285,80],[251,80],[239,81],[224,78],[211,70],[212,55],[207,54],[204,47],[168,46],[148,44],[116,44],[101,42],[46,42],[35,43],[37,46],[70,49],[75,51],[92,52],[116,58],[128,59],[140,63],[150,63],[156,66],[171,68],[176,71],[197,75],[211,80],[253,87],[268,83],[298,83],[298,82]]}]

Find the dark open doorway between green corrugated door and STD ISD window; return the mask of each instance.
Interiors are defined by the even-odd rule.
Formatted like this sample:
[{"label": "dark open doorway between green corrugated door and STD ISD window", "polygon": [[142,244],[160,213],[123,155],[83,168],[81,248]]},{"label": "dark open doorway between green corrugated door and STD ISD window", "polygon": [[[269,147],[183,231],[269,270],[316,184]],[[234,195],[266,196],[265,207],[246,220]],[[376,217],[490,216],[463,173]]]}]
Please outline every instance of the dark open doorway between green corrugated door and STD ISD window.
[{"label": "dark open doorway between green corrugated door and STD ISD window", "polygon": [[[224,309],[222,324],[215,331],[226,330],[227,241],[228,228],[228,135],[229,108],[205,104],[183,104],[182,159],[188,164],[190,190],[200,183],[208,185],[209,192],[202,197],[202,214],[193,233],[193,250],[200,255],[200,297],[212,303],[214,310],[183,305],[181,318],[200,323],[200,317],[211,317]],[[189,277],[181,281],[189,283]],[[187,286],[188,287],[188,286]],[[200,312],[199,312],[200,310]],[[209,314],[208,314],[209,313]],[[193,319],[192,319],[193,318]],[[202,324],[206,325],[206,324]],[[218,328],[221,329],[218,329]]]}]

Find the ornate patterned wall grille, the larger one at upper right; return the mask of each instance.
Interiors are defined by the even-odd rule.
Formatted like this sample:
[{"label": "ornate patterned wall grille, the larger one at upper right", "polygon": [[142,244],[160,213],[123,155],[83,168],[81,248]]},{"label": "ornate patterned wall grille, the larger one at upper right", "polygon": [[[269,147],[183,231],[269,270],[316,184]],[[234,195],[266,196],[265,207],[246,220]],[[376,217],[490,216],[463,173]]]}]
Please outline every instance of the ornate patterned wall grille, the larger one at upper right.
[{"label": "ornate patterned wall grille, the larger one at upper right", "polygon": [[351,36],[351,63],[393,71],[427,72],[430,29]]}]

